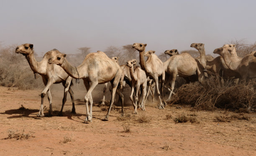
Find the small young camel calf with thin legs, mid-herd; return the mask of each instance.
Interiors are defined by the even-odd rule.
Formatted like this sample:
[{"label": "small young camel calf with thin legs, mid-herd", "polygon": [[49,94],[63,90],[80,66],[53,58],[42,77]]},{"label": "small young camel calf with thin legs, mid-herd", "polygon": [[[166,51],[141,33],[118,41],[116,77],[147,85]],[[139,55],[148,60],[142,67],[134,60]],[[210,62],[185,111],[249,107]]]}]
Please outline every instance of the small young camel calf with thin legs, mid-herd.
[{"label": "small young camel calf with thin legs, mid-herd", "polygon": [[[140,67],[137,67],[136,69],[134,69],[134,64],[136,64],[137,60],[133,59],[127,62],[127,66],[130,68],[130,74],[131,74],[131,78],[132,78],[132,89],[131,89],[131,102],[133,103],[133,107],[134,107],[134,114],[137,114],[137,101],[138,101],[138,92],[140,87],[142,87],[143,90],[143,97],[142,97],[142,110],[146,111],[145,109],[145,97],[146,97],[146,87],[147,87],[147,77],[146,77],[146,73],[145,71],[141,70]],[[135,103],[133,102],[133,92],[134,92],[134,88],[136,87],[135,90]]]}]

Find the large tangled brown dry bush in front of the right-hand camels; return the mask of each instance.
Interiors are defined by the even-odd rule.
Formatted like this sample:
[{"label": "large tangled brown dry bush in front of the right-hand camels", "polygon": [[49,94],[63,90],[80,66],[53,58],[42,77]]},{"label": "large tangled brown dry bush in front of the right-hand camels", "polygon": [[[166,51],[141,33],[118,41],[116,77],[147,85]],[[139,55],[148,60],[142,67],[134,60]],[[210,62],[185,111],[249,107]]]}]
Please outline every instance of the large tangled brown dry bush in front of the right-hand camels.
[{"label": "large tangled brown dry bush in front of the right-hand camels", "polygon": [[204,84],[194,82],[182,85],[174,95],[174,104],[187,104],[197,110],[212,111],[216,107],[230,110],[254,109],[256,107],[256,82],[233,81],[221,83],[219,77],[210,77]]}]

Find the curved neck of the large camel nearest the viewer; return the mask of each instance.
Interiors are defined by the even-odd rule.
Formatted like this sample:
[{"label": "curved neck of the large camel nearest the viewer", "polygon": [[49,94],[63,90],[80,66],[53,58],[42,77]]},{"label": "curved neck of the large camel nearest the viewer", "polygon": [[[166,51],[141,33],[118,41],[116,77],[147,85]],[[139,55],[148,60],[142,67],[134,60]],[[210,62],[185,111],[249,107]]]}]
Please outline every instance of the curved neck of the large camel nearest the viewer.
[{"label": "curved neck of the large camel nearest the viewer", "polygon": [[61,67],[69,74],[69,76],[73,77],[74,79],[81,78],[81,69],[80,67],[73,67],[67,59],[64,59],[64,62],[61,64]]}]

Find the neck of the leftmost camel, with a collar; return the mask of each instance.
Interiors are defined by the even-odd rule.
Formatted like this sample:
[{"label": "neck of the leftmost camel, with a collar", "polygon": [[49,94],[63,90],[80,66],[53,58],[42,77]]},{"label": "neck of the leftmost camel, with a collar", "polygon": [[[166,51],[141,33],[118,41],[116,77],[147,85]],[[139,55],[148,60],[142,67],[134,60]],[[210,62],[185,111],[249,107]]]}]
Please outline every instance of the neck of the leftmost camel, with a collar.
[{"label": "neck of the leftmost camel, with a collar", "polygon": [[46,66],[48,60],[43,59],[41,62],[37,62],[33,52],[27,55],[26,59],[28,60],[28,64],[34,73],[38,73],[41,75],[46,74]]}]

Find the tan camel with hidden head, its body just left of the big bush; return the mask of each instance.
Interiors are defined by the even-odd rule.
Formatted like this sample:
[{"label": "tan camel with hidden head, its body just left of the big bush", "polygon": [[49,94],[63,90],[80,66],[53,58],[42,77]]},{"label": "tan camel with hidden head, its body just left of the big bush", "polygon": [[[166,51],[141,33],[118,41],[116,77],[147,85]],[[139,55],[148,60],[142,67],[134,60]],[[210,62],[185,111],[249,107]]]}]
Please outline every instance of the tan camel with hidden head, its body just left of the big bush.
[{"label": "tan camel with hidden head, its body just left of the big bush", "polygon": [[[172,81],[171,93],[168,97],[168,100],[171,98],[172,94],[174,94],[173,90],[177,75],[179,75],[179,77],[190,77],[197,74],[198,80],[201,83],[205,79],[205,75],[203,74],[203,69],[200,62],[195,60],[187,52],[173,55],[167,59],[167,61],[164,62],[164,70],[170,75]],[[169,82],[166,84],[169,84]]]}]

